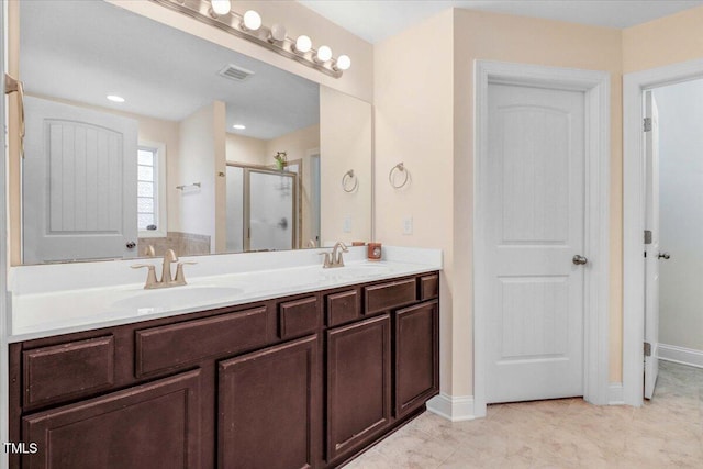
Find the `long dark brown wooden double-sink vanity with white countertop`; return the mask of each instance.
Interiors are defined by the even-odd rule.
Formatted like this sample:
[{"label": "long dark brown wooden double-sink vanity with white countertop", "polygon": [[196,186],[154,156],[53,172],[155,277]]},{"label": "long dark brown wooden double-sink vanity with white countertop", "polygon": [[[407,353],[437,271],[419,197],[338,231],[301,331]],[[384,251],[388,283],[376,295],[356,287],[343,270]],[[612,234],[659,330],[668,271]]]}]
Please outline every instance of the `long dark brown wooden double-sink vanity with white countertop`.
[{"label": "long dark brown wooden double-sink vanity with white countertop", "polygon": [[[337,467],[438,393],[438,268],[290,268],[317,279],[279,289],[292,294],[252,293],[257,276],[277,275],[259,271],[216,308],[183,300],[187,312],[34,332],[44,336],[10,344],[10,436],[38,451],[11,467]],[[194,297],[215,293],[193,283]],[[116,303],[147,304],[149,293],[168,291]]]}]

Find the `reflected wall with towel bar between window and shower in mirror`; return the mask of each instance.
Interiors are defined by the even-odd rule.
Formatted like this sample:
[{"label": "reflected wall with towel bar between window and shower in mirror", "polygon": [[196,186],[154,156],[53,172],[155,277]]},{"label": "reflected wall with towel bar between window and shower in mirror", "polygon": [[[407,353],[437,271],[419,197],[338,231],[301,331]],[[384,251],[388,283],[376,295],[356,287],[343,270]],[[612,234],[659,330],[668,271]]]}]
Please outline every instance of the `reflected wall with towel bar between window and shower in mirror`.
[{"label": "reflected wall with towel bar between window and shower in mirror", "polygon": [[[215,101],[183,119],[179,125],[180,179],[176,186],[200,182],[200,189],[182,191],[181,231],[210,236],[213,253],[224,250],[225,107]],[[222,130],[222,131],[220,131]],[[171,182],[172,183],[172,182]]]}]

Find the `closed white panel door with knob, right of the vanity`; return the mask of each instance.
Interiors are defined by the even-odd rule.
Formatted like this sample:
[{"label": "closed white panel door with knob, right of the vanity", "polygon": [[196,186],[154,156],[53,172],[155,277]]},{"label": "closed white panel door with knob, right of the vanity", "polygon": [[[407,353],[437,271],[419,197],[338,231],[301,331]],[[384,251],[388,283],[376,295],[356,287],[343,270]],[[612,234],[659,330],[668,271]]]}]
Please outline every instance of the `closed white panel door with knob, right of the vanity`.
[{"label": "closed white panel door with knob, right of the vanity", "polygon": [[584,99],[489,83],[487,403],[583,395]]}]

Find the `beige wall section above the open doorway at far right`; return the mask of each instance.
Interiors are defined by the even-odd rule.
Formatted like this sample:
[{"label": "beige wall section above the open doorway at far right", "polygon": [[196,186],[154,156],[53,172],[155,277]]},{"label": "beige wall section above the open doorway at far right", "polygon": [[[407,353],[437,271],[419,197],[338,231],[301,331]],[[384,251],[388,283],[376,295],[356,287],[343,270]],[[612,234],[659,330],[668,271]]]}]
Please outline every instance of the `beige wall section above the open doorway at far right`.
[{"label": "beige wall section above the open doorway at far right", "polygon": [[703,7],[623,31],[623,72],[703,57]]}]

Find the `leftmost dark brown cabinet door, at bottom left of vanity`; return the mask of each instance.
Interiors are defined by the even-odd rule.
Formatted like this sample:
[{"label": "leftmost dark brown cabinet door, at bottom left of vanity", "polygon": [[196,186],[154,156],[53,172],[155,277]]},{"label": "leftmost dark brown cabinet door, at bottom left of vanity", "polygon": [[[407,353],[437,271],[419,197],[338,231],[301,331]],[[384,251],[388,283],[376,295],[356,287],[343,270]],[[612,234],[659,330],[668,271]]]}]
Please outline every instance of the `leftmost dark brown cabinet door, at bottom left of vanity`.
[{"label": "leftmost dark brown cabinet door, at bottom left of vanity", "polygon": [[200,370],[81,401],[22,420],[38,451],[22,467],[199,468]]}]

